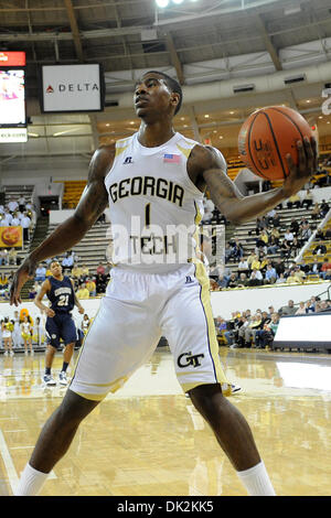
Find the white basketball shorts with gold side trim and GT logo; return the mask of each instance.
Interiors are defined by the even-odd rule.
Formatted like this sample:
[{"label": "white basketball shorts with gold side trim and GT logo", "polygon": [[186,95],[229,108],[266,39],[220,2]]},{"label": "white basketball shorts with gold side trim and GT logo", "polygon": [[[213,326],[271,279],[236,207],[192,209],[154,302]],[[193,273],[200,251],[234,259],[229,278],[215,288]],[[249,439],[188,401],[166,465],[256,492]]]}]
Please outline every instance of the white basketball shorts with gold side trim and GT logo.
[{"label": "white basketball shorts with gold side trim and GT logo", "polygon": [[201,262],[175,272],[137,273],[114,268],[82,345],[71,390],[102,400],[115,392],[168,339],[182,389],[226,384],[210,301],[210,281]]}]

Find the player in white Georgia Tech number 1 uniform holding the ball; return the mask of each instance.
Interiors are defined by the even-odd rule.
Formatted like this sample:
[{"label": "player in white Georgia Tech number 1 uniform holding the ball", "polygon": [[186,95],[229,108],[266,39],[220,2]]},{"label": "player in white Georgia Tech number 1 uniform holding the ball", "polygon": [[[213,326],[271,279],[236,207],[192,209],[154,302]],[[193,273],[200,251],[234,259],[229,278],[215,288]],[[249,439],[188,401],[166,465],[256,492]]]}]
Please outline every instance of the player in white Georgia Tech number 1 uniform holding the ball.
[{"label": "player in white Georgia Tech number 1 uniform holding the ball", "polygon": [[[152,355],[161,335],[168,338],[184,392],[211,425],[247,493],[275,495],[248,423],[222,393],[210,283],[195,253],[194,229],[206,187],[220,212],[236,224],[287,199],[316,171],[316,141],[298,142],[299,164],[288,158],[290,174],[281,187],[244,197],[227,177],[220,152],[173,130],[182,101],[175,80],[149,72],[137,83],[134,101],[139,131],[95,152],[74,215],[28,256],[14,276],[11,303],[18,305],[36,265],[73,248],[109,203],[111,230],[118,238],[111,279],[68,390],[45,423],[15,495],[39,493],[82,420]],[[184,238],[190,246],[179,253]]]}]

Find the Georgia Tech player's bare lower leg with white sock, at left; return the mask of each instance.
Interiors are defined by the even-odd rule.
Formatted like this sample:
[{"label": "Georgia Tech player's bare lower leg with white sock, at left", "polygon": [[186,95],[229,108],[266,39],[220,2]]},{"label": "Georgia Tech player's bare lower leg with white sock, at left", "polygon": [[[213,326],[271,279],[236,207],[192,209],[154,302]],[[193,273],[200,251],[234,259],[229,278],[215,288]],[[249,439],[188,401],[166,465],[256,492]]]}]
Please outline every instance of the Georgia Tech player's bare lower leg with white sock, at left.
[{"label": "Georgia Tech player's bare lower leg with white sock, at left", "polygon": [[38,495],[49,473],[67,452],[79,423],[98,402],[67,390],[61,406],[44,424],[14,495]]}]

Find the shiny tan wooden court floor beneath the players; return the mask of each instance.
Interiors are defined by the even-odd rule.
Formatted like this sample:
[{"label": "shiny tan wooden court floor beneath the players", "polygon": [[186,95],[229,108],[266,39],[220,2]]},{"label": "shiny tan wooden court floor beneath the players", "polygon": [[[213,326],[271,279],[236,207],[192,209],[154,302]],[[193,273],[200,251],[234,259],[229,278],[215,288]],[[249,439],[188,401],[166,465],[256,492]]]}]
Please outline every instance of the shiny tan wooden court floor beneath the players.
[{"label": "shiny tan wooden court floor beneath the players", "polygon": [[[331,356],[220,349],[231,400],[248,420],[281,496],[331,495]],[[55,357],[54,375],[62,358]],[[12,495],[66,389],[44,388],[43,354],[0,356],[0,496]],[[45,496],[241,496],[229,462],[158,349],[81,424]]]}]

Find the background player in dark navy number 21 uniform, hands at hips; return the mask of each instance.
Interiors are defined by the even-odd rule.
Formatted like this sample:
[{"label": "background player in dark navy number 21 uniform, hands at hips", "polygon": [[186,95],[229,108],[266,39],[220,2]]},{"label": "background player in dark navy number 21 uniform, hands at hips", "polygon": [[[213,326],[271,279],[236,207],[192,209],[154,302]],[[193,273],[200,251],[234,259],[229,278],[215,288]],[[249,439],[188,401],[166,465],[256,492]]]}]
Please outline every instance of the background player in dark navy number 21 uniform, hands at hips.
[{"label": "background player in dark navy number 21 uniform, hands at hips", "polygon": [[[52,276],[42,284],[40,292],[34,299],[35,305],[47,315],[46,334],[49,344],[45,356],[45,374],[43,381],[47,386],[56,385],[52,377],[51,369],[56,349],[60,347],[60,339],[64,342],[63,365],[58,375],[60,385],[67,385],[66,369],[71,363],[75,342],[77,339],[77,331],[72,317],[74,305],[78,307],[81,314],[84,307],[81,305],[75,295],[73,281],[62,274],[62,266],[57,261],[50,265]],[[51,302],[51,307],[43,304],[42,300],[46,295]]]}]

